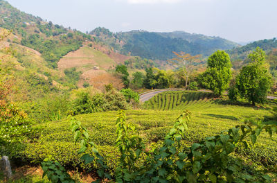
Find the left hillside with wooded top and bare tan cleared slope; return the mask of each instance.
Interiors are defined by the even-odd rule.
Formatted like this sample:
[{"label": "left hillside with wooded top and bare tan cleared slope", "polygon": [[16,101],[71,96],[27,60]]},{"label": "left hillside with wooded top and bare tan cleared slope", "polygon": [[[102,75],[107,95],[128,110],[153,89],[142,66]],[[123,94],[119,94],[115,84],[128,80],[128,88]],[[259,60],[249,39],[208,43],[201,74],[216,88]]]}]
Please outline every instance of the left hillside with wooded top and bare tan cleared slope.
[{"label": "left hillside with wooded top and bare tan cleared slope", "polygon": [[[84,82],[92,85],[91,80],[98,73],[101,77],[105,74],[104,78],[118,81],[107,70],[114,69],[116,64],[123,64],[130,58],[93,40],[91,35],[21,12],[7,1],[0,0],[0,12],[1,31],[12,30],[6,42],[1,44],[1,49],[17,45],[12,46],[12,51],[25,55],[24,59],[21,56],[19,58],[21,67],[28,71],[33,71],[35,67],[34,72],[44,78],[55,78],[54,82],[59,85],[70,88],[77,85],[83,87]],[[22,47],[35,54],[21,53]],[[40,63],[42,68],[45,66],[47,71],[39,69],[37,64],[30,64],[29,60]],[[94,70],[93,67],[99,67],[100,70]],[[54,73],[59,73],[59,77]]]}]

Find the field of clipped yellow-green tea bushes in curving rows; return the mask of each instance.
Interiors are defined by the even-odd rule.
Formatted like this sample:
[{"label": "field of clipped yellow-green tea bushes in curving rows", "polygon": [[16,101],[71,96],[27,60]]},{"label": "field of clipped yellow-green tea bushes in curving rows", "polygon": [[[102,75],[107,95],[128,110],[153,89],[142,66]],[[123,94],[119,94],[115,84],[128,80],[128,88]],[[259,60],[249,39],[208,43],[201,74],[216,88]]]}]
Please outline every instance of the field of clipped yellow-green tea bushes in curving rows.
[{"label": "field of clipped yellow-green tea bushes in curving rows", "polygon": [[[148,109],[127,110],[126,116],[127,123],[135,125],[139,135],[148,145],[163,140],[183,110],[190,110],[193,114],[189,130],[186,132],[186,145],[242,124],[244,119],[258,116],[264,118],[265,122],[272,123],[269,119],[273,117],[267,107],[228,105],[213,100],[210,93],[204,92],[163,92],[146,102],[144,107]],[[115,146],[116,114],[117,112],[97,112],[76,116],[89,130],[89,137],[96,143],[100,154],[105,157],[111,172],[114,172],[119,158]],[[39,126],[43,129],[41,137],[38,141],[26,145],[26,150],[20,155],[22,159],[40,163],[49,157],[66,167],[89,168],[84,166],[77,153],[80,146],[75,145],[73,141],[69,119]],[[245,164],[251,164],[257,170],[265,169],[276,176],[276,135],[273,139],[269,139],[267,134],[261,134],[255,146],[249,146],[249,150],[238,147],[233,156],[242,157]],[[96,164],[91,166],[97,168]]]}]

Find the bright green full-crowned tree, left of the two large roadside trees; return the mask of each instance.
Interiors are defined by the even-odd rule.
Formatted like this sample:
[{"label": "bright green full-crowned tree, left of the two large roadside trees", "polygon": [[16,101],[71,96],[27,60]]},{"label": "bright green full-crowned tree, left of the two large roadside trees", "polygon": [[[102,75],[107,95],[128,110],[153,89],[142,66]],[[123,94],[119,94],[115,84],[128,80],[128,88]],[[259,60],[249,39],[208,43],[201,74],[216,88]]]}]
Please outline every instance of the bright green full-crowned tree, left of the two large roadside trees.
[{"label": "bright green full-crowned tree, left of the two large roadside trees", "polygon": [[215,51],[208,58],[207,70],[200,76],[201,84],[221,96],[231,80],[231,61],[225,51]]}]

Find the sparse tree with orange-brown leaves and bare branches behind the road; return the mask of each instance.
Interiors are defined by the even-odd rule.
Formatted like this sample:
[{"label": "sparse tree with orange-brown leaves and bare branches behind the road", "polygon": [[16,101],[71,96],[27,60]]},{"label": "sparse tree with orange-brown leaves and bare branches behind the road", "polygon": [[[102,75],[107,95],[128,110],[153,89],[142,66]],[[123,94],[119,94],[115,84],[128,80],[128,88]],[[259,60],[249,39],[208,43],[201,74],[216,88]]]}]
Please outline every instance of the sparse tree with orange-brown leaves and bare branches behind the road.
[{"label": "sparse tree with orange-brown leaves and bare branches behind the road", "polygon": [[179,53],[173,51],[173,53],[176,55],[176,58],[172,58],[173,64],[177,64],[183,70],[184,80],[186,80],[185,87],[187,88],[188,78],[194,69],[193,63],[199,62],[201,55],[192,56],[189,53],[184,53],[183,51],[180,51]]}]

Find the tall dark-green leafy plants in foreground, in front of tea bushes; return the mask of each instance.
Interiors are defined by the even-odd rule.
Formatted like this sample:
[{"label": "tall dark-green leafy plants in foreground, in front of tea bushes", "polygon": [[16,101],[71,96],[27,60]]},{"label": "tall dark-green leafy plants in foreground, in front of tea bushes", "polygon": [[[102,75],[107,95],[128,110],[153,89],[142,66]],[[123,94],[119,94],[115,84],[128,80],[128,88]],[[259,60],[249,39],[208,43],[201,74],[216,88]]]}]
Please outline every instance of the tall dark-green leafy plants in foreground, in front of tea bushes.
[{"label": "tall dark-green leafy plants in foreground, in front of tea bushes", "polygon": [[[276,125],[262,125],[260,121],[248,120],[235,128],[224,130],[219,135],[207,137],[192,146],[182,144],[190,123],[190,112],[184,112],[166,135],[160,147],[146,150],[145,143],[136,133],[132,124],[126,123],[125,113],[120,111],[116,120],[116,146],[120,152],[116,168],[116,182],[270,182],[269,175],[242,168],[240,158],[231,157],[240,143],[248,148],[247,137],[256,143],[262,130],[277,133]],[[89,138],[80,121],[71,125],[74,141],[80,141],[81,159],[91,164],[94,159],[99,164],[100,179],[111,179],[104,158]],[[94,156],[85,153],[92,150]],[[143,160],[141,162],[141,160]],[[66,174],[67,175],[67,174]],[[100,180],[98,180],[99,182]],[[56,181],[58,182],[58,180]]]}]

